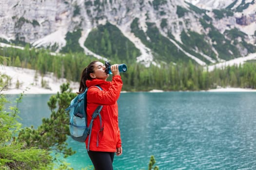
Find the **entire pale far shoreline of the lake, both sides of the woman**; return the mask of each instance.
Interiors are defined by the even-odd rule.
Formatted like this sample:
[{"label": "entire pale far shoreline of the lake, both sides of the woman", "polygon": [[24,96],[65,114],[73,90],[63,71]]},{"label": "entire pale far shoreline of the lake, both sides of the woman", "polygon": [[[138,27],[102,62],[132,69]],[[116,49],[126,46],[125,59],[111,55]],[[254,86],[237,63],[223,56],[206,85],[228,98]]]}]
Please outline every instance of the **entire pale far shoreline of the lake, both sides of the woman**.
[{"label": "entire pale far shoreline of the lake, both sides of the woman", "polygon": [[[57,94],[60,92],[60,85],[63,83],[70,83],[72,92],[76,93],[79,91],[79,83],[67,81],[63,78],[56,78],[53,73],[48,73],[43,76],[39,75],[36,70],[28,68],[17,68],[10,66],[2,66],[0,68],[1,74],[6,74],[11,78],[11,85],[9,89],[2,90],[2,94]],[[19,83],[19,89],[16,88],[17,82]],[[47,88],[41,87],[42,82]],[[234,88],[234,87],[219,87],[210,90],[199,90],[201,92],[256,92],[256,89],[248,88]],[[129,91],[122,91],[126,93]],[[148,91],[150,93],[162,93],[165,92],[161,89],[153,89]]]}]

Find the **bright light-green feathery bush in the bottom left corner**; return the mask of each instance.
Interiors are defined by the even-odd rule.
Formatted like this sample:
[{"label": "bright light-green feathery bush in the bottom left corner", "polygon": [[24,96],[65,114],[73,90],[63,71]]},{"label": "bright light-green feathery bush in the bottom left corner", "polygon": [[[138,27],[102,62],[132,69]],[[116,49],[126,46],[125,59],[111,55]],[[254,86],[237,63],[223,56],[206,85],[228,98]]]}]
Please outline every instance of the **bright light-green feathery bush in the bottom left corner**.
[{"label": "bright light-green feathery bush in the bottom left corner", "polygon": [[[22,95],[17,100],[20,102]],[[17,121],[17,106],[4,108],[7,102],[0,94],[0,169],[1,170],[50,170],[53,168],[49,151],[28,147],[23,140],[17,140],[21,124]]]}]

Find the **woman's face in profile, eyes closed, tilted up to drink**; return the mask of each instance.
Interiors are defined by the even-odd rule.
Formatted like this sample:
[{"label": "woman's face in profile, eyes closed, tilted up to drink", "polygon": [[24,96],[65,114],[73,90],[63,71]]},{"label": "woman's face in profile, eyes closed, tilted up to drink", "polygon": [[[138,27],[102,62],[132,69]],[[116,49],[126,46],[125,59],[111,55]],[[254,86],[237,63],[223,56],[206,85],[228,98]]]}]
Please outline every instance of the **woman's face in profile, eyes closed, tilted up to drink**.
[{"label": "woman's face in profile, eyes closed, tilted up to drink", "polygon": [[94,64],[94,73],[91,73],[90,76],[93,79],[102,79],[102,80],[107,80],[109,77],[109,74],[105,72],[106,67],[103,65],[101,62],[96,62]]}]

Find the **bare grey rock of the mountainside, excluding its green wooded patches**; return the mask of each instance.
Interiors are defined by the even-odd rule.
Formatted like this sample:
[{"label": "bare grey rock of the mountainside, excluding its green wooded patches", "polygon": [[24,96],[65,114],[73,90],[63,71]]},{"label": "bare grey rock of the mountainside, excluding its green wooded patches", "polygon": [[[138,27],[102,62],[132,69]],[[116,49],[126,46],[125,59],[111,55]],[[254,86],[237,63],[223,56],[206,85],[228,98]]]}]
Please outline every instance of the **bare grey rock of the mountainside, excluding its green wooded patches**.
[{"label": "bare grey rock of the mountainside, excluding its green wooded patches", "polygon": [[[254,0],[247,3],[244,0],[227,0],[225,3],[221,0],[6,0],[0,3],[1,38],[29,42],[36,47],[57,46],[57,51],[66,46],[67,33],[81,30],[80,46],[85,52],[97,55],[94,49],[84,46],[84,41],[92,30],[106,22],[116,26],[140,51],[137,60],[147,63],[159,56],[146,43],[154,41],[147,33],[148,23],[154,23],[159,34],[169,40],[168,43],[174,44],[201,65],[229,59],[225,58],[228,54],[222,54],[223,51],[217,47],[219,42],[225,41],[224,44],[229,43],[240,49],[239,56],[250,51],[247,45],[242,45],[238,40],[234,43],[236,38],[255,47]],[[145,41],[131,29],[131,24],[137,18],[138,29],[147,38]],[[224,34],[235,28],[244,35],[228,37],[228,34]],[[219,41],[221,35],[218,33],[223,34]],[[187,34],[187,37],[203,35],[202,40],[211,46],[210,52],[197,43],[186,44],[183,38],[186,36],[182,37],[182,34]],[[194,52],[200,54],[201,58],[195,56]],[[231,58],[238,57],[235,52],[230,49]]]}]

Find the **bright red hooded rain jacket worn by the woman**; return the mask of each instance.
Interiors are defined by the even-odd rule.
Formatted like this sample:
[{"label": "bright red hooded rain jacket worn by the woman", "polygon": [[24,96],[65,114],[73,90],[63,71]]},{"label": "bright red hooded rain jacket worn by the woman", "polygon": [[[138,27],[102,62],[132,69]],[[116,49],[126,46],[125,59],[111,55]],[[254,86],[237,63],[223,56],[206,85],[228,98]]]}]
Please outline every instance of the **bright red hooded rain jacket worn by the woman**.
[{"label": "bright red hooded rain jacket worn by the woman", "polygon": [[[95,85],[99,85],[102,90]],[[121,76],[113,76],[112,82],[100,79],[86,80],[87,91],[87,124],[98,105],[103,105],[100,112],[102,128],[100,131],[99,117],[93,121],[90,151],[117,152],[121,147],[120,130],[118,127],[118,98],[122,88]],[[88,138],[85,140],[88,147]],[[97,147],[98,141],[98,147]]]}]

